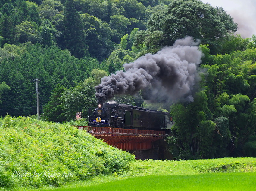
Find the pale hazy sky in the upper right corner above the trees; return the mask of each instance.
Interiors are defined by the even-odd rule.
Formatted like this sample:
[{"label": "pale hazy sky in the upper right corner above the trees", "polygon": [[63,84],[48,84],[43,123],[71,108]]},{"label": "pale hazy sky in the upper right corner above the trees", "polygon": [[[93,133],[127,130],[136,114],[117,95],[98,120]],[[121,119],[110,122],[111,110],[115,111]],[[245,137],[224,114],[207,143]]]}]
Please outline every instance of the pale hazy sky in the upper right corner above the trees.
[{"label": "pale hazy sky in the upper right corner above the trees", "polygon": [[212,7],[222,7],[237,23],[236,34],[243,38],[256,35],[256,0],[201,0]]}]

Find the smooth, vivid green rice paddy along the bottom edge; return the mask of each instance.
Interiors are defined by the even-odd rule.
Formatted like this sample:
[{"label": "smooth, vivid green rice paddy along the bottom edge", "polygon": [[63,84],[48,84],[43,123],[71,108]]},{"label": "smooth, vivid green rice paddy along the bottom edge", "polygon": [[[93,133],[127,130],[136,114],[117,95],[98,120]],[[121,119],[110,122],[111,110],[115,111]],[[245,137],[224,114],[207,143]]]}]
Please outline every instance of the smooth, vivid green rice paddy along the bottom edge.
[{"label": "smooth, vivid green rice paddy along the bottom edge", "polygon": [[255,175],[255,173],[207,173],[168,176],[149,175],[85,187],[70,189],[62,188],[58,189],[58,191],[255,190]]}]

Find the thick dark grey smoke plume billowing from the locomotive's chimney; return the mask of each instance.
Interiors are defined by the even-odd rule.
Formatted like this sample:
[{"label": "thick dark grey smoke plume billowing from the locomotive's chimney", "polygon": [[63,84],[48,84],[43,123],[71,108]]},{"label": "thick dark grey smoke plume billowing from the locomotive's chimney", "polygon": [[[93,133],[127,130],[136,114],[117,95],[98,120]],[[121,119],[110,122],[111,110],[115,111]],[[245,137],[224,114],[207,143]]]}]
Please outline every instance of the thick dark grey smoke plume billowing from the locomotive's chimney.
[{"label": "thick dark grey smoke plume billowing from the locomotive's chimney", "polygon": [[151,87],[151,99],[156,96],[193,101],[192,93],[198,82],[197,66],[202,52],[198,41],[192,37],[176,40],[173,46],[165,47],[156,54],[146,54],[129,64],[124,70],[105,76],[95,86],[98,103],[103,103],[115,94],[135,94]]}]

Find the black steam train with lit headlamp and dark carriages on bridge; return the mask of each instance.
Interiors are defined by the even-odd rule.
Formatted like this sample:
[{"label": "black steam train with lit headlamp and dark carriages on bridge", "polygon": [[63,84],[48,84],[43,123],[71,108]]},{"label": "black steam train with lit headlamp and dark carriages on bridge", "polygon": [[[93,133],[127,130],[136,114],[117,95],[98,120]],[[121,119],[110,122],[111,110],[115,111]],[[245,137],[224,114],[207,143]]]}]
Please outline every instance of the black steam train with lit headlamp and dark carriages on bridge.
[{"label": "black steam train with lit headlamp and dark carriages on bridge", "polygon": [[170,114],[126,104],[98,104],[89,108],[88,126],[128,129],[170,130],[174,124]]}]

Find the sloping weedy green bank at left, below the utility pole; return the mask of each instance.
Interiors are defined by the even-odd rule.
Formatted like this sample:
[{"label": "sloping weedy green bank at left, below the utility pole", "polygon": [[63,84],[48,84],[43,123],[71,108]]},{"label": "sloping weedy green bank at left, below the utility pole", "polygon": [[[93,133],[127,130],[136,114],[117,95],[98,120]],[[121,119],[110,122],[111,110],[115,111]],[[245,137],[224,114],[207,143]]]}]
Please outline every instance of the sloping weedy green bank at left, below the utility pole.
[{"label": "sloping weedy green bank at left, below the utility pole", "polygon": [[67,124],[0,118],[0,188],[58,187],[126,169],[134,156]]}]

